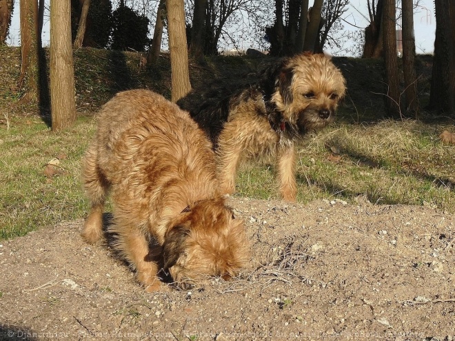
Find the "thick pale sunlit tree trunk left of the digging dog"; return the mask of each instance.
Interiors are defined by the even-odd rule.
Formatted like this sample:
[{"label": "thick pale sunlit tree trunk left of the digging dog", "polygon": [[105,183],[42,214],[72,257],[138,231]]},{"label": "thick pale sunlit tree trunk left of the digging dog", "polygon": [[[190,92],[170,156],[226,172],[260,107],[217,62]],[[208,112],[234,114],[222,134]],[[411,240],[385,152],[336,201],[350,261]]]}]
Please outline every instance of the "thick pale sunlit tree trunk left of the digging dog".
[{"label": "thick pale sunlit tree trunk left of the digging dog", "polygon": [[50,101],[52,130],[76,121],[70,0],[50,1]]}]

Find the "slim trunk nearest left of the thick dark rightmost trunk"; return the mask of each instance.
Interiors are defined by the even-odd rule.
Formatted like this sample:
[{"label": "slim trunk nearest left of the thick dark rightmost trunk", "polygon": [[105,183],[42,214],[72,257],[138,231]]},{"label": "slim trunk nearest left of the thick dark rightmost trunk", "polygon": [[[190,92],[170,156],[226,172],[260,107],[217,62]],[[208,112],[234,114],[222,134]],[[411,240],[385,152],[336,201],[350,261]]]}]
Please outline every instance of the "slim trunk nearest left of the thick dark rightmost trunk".
[{"label": "slim trunk nearest left of the thick dark rightmost trunk", "polygon": [[414,13],[412,0],[402,0],[403,13],[403,73],[405,76],[406,111],[418,114],[417,79],[415,69],[416,41],[414,39]]}]

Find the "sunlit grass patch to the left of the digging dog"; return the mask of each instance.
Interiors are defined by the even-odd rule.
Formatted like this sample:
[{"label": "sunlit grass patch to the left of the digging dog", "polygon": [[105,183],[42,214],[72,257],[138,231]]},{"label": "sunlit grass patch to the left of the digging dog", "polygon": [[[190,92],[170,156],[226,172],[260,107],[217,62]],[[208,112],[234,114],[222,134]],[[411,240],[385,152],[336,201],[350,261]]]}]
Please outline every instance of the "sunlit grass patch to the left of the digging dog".
[{"label": "sunlit grass patch to the left of the digging dog", "polygon": [[[62,220],[81,218],[87,203],[81,189],[81,158],[94,133],[90,118],[65,132],[50,132],[39,119],[18,119],[0,129],[0,239],[23,236]],[[59,173],[45,165],[59,157]]]}]

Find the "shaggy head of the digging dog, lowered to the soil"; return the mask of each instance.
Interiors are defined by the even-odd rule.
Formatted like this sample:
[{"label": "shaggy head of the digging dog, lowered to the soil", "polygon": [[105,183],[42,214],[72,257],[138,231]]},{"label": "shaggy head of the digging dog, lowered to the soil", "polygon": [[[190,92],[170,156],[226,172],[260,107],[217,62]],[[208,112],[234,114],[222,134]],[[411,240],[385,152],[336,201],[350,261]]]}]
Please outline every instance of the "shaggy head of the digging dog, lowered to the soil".
[{"label": "shaggy head of the digging dog, lowered to the soil", "polygon": [[164,268],[178,285],[208,276],[228,280],[249,259],[243,221],[223,198],[200,200],[185,209],[165,234]]}]

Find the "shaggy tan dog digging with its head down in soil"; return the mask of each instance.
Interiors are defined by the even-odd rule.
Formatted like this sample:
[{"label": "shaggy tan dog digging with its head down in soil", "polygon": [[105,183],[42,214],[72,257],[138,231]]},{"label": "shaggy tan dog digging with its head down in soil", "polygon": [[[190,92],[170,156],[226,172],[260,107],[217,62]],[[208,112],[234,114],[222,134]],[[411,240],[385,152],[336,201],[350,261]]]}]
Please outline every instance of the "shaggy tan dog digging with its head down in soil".
[{"label": "shaggy tan dog digging with its head down in soil", "polygon": [[248,259],[247,241],[243,222],[217,191],[215,169],[212,145],[187,112],[147,90],[117,94],[99,112],[83,159],[92,205],[83,237],[94,243],[103,235],[110,189],[108,231],[148,291],[159,289],[161,267],[181,284],[236,276]]}]

